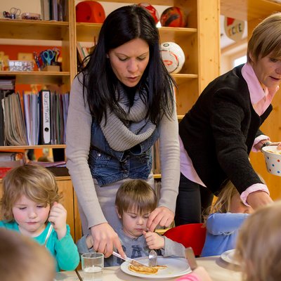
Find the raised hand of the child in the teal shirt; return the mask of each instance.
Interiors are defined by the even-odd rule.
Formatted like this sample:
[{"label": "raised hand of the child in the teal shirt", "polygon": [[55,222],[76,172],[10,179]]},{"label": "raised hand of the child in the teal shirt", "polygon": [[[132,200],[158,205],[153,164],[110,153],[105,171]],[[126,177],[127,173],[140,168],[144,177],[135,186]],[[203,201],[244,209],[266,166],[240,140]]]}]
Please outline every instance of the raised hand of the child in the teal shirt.
[{"label": "raised hand of the child in the teal shirt", "polygon": [[66,235],[66,217],[67,211],[65,207],[58,202],[54,202],[50,214],[48,215],[48,221],[53,223],[53,228],[58,234],[58,239],[61,239]]}]

